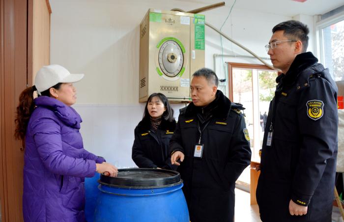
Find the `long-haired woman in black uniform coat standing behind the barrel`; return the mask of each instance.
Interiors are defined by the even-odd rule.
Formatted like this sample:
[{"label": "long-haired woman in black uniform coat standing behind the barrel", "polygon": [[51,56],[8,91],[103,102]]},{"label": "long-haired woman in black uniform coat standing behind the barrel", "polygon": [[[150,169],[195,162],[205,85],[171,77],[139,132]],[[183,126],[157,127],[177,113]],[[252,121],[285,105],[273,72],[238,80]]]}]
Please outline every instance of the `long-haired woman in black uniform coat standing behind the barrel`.
[{"label": "long-haired woman in black uniform coat standing behind the barrel", "polygon": [[169,143],[175,128],[173,109],[161,93],[148,97],[143,118],[135,128],[132,159],[140,168],[176,169],[169,157]]}]

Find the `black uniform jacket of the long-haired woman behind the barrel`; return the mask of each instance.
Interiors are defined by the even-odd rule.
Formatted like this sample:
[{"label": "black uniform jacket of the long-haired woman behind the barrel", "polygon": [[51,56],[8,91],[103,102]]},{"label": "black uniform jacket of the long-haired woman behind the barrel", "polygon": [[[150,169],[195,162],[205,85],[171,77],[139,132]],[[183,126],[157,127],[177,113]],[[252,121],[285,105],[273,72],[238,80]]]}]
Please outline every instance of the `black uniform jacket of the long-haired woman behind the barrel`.
[{"label": "black uniform jacket of the long-haired woman behind the barrel", "polygon": [[141,121],[135,128],[132,159],[140,168],[176,169],[169,157],[169,143],[175,129],[172,122],[162,119],[156,132],[150,129],[150,120]]}]

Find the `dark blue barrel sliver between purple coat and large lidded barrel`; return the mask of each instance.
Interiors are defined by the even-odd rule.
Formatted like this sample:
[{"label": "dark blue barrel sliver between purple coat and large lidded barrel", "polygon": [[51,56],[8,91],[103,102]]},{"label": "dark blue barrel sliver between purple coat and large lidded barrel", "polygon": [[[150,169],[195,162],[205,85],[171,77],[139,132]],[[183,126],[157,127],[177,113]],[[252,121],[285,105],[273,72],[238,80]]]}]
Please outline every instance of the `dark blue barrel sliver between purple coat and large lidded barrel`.
[{"label": "dark blue barrel sliver between purple coat and large lidded barrel", "polygon": [[93,222],[94,209],[97,203],[100,190],[98,180],[100,173],[95,173],[93,177],[85,178],[85,218],[87,222]]}]

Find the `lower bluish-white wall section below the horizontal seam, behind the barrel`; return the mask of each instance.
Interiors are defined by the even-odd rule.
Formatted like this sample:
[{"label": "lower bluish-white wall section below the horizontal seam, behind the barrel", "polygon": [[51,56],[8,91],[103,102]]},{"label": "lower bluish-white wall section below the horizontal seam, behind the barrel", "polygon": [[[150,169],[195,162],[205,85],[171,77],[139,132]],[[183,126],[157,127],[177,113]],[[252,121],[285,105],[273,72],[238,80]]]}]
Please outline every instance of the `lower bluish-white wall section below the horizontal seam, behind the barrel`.
[{"label": "lower bluish-white wall section below the horizontal seam, behind the barrel", "polygon": [[[131,159],[131,148],[144,105],[74,105],[83,119],[80,132],[85,149],[119,168],[136,167]],[[172,104],[176,119],[184,106]]]}]

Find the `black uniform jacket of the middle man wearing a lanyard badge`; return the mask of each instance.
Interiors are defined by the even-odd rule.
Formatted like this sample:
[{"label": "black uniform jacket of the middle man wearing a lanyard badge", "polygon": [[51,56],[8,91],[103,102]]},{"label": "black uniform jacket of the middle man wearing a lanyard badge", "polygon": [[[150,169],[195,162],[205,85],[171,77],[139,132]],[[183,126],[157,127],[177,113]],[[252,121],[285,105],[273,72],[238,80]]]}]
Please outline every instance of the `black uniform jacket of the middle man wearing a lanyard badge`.
[{"label": "black uniform jacket of the middle man wearing a lanyard badge", "polygon": [[[216,99],[205,108],[190,103],[180,110],[170,151],[185,155],[177,171],[184,181],[183,192],[192,222],[233,221],[235,181],[251,159],[250,138],[238,109],[243,109],[242,105],[231,103],[218,90]],[[203,115],[204,119],[202,111],[208,113]],[[206,119],[210,120],[202,131],[203,155],[201,159],[194,158],[200,139],[198,126],[203,128]]]}]

